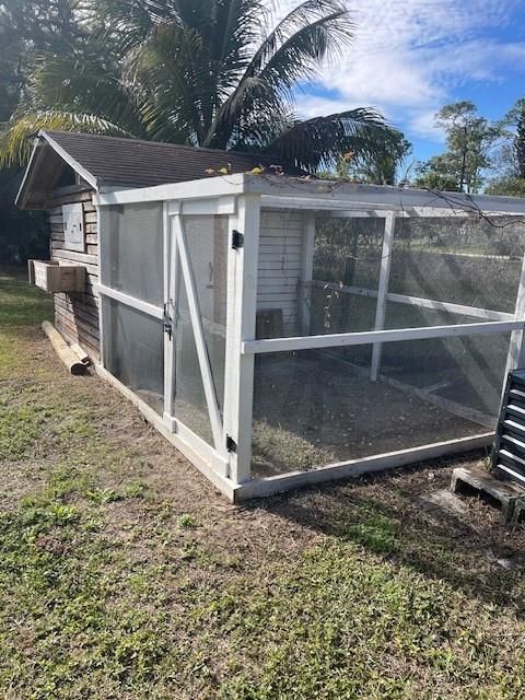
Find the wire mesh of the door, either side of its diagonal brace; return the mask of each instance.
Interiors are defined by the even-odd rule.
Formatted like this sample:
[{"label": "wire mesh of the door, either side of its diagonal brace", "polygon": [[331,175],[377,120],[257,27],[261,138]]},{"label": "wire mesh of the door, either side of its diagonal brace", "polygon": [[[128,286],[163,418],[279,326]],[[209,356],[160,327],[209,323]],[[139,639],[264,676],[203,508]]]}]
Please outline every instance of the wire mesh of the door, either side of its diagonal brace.
[{"label": "wire mesh of the door, either side of its diagonal brace", "polygon": [[211,370],[212,390],[219,410],[222,411],[226,337],[228,218],[188,215],[183,218],[182,224],[198,307],[198,324],[191,318],[188,289],[178,259],[174,324],[174,410],[180,422],[206,442],[213,444],[196,332],[202,331],[206,357]]}]

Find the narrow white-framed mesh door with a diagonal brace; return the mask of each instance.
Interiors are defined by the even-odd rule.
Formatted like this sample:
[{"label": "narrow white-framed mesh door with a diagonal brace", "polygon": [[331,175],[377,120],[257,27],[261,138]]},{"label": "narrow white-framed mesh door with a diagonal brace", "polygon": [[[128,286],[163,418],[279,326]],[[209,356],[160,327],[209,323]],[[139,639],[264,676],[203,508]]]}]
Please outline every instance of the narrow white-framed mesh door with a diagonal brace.
[{"label": "narrow white-framed mesh door with a diagonal brace", "polygon": [[223,431],[228,218],[172,218],[168,417],[174,430],[225,459]]}]

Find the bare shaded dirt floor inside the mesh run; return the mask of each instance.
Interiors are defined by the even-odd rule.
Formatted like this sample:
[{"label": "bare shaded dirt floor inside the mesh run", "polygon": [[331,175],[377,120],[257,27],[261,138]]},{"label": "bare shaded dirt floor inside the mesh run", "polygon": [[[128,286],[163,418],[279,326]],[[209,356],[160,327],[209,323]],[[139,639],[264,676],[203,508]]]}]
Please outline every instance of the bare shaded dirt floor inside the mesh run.
[{"label": "bare shaded dirt floor inside the mesh run", "polygon": [[[258,358],[254,397],[257,476],[418,447],[487,428],[319,357]],[[288,446],[292,446],[292,450]]]}]

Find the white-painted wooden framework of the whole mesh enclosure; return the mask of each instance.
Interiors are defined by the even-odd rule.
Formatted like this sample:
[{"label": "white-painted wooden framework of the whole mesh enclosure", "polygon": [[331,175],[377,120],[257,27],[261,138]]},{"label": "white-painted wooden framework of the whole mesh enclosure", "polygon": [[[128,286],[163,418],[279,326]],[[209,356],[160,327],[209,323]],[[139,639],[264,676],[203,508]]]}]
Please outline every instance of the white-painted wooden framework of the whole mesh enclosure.
[{"label": "white-painted wooden framework of the whole mesh enclosure", "polygon": [[[385,218],[389,222],[389,225],[385,226],[385,234],[388,229],[393,232],[396,217],[476,217],[477,208],[494,215],[515,214],[525,217],[525,205],[518,200],[483,197],[469,198],[460,195],[451,195],[451,197],[454,198],[453,206],[444,201],[439,195],[428,191],[353,185],[343,185],[329,191],[329,187],[324,184],[318,185],[295,180],[289,187],[285,178],[261,178],[248,175],[211,178],[206,184],[200,180],[100,194],[95,197],[95,203],[101,212],[103,212],[106,205],[164,201],[164,295],[167,303],[167,312],[168,314],[172,313],[173,310],[170,304],[173,304],[176,299],[176,285],[179,282],[176,279],[176,273],[179,266],[188,295],[191,327],[213,432],[213,446],[208,445],[173,416],[174,346],[173,341],[170,341],[167,337],[165,352],[167,353],[166,366],[168,368],[168,376],[166,377],[165,412],[163,418],[160,418],[115,377],[108,375],[102,366],[97,368],[97,370],[105,378],[118,386],[140,408],[144,416],[233,501],[267,495],[306,483],[318,483],[320,481],[357,476],[366,471],[394,468],[419,459],[488,445],[491,442],[492,433],[423,445],[373,457],[349,459],[319,466],[308,471],[250,480],[254,363],[257,353],[372,343],[375,354],[374,366],[378,373],[381,347],[384,342],[512,331],[513,342],[510,348],[509,366],[511,364],[515,365],[516,362],[524,359],[522,349],[525,328],[525,265],[514,315],[447,302],[434,302],[433,300],[409,295],[392,294],[387,290],[388,270],[387,262],[385,262],[382,265],[382,283],[380,283],[377,291],[360,288],[339,288],[337,285],[339,291],[373,296],[378,300],[374,330],[255,340],[257,260],[261,207],[301,210],[324,209],[329,210],[335,217]],[[218,408],[217,396],[214,396],[211,368],[203,345],[202,319],[198,308],[195,279],[184,231],[184,214],[195,213],[209,215],[220,213],[229,217],[226,364],[222,419]],[[104,229],[104,220],[105,218],[102,214],[100,217],[101,235]],[[301,275],[303,285],[318,284],[311,279],[312,260],[308,259],[305,252],[312,247],[313,229],[313,214],[310,214],[306,217],[306,246],[303,249],[302,257]],[[233,247],[234,232],[241,232],[244,235],[244,245],[242,247]],[[392,240],[388,244],[385,235],[383,244],[384,259],[389,257],[385,255],[385,246],[388,247],[388,245],[392,246]],[[170,283],[167,280],[170,280]],[[320,284],[324,285],[324,283]],[[140,300],[126,295],[118,290],[109,289],[103,284],[100,284],[97,289],[101,296],[115,299],[155,318],[164,316],[163,308],[140,302]],[[384,305],[387,301],[469,315],[487,323],[384,330]],[[300,315],[302,316],[303,332],[305,332],[307,310],[302,308]],[[102,347],[101,353],[103,353]],[[226,451],[226,439],[230,452]]]}]

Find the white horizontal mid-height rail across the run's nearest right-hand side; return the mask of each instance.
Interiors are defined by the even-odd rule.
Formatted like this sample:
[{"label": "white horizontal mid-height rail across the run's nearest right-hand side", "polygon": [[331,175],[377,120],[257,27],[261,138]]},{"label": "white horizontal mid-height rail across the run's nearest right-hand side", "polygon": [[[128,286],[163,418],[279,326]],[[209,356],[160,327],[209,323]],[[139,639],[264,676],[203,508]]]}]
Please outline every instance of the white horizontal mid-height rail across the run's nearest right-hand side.
[{"label": "white horizontal mid-height rail across the run's nearest right-hand side", "polygon": [[401,340],[425,340],[460,336],[485,336],[492,332],[522,330],[525,320],[494,320],[456,326],[425,326],[423,328],[400,328],[394,330],[371,330],[365,332],[340,332],[325,336],[299,336],[295,338],[271,338],[269,340],[245,340],[243,354],[260,352],[290,352],[292,350],[314,350],[318,348],[345,348],[374,342],[398,342]]}]

